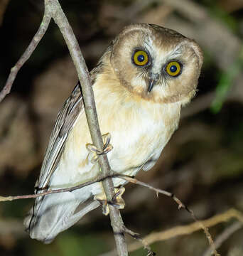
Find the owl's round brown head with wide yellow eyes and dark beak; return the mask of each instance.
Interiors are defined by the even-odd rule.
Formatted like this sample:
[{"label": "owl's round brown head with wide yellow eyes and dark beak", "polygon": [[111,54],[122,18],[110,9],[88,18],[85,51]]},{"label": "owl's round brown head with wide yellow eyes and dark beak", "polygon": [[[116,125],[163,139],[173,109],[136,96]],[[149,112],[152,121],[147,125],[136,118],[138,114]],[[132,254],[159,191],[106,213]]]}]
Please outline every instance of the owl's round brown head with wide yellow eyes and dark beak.
[{"label": "owl's round brown head with wide yellow eyes and dark beak", "polygon": [[154,102],[185,104],[195,95],[202,51],[175,31],[136,23],[114,40],[110,62],[131,92]]}]

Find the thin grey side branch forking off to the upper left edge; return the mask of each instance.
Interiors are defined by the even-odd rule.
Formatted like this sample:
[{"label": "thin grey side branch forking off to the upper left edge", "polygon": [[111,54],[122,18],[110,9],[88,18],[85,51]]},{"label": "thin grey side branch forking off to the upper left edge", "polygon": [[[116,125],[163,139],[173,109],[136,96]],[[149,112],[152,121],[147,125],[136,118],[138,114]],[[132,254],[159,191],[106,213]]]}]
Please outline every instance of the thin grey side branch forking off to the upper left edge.
[{"label": "thin grey side branch forking off to the upper left edge", "polygon": [[36,35],[31,40],[31,43],[28,45],[23,55],[21,55],[21,58],[19,58],[17,63],[13,66],[13,68],[11,68],[9,78],[6,80],[6,84],[0,92],[0,102],[4,100],[4,97],[7,94],[9,94],[9,92],[11,91],[11,87],[13,85],[13,81],[15,80],[16,75],[18,73],[18,70],[20,70],[23,64],[26,63],[26,60],[28,60],[28,58],[31,57],[31,54],[36,49],[36,46],[38,46],[38,43],[41,41],[41,38],[44,36],[45,31],[48,29],[50,18],[50,12],[48,11],[48,9],[45,9],[43,20],[41,21],[41,25],[38,28]]}]

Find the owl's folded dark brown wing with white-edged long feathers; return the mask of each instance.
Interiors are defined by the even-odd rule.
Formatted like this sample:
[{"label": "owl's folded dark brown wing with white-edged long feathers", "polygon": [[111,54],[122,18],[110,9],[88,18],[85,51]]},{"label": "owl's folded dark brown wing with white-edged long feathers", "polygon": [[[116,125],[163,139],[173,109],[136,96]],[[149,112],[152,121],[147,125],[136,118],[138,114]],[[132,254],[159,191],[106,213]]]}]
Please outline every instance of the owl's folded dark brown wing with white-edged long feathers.
[{"label": "owl's folded dark brown wing with white-edged long feathers", "polygon": [[41,174],[36,184],[39,189],[48,186],[50,177],[59,164],[68,134],[75,124],[77,117],[83,111],[82,90],[80,82],[78,82],[70,97],[68,97],[68,100],[63,105],[62,110],[58,113],[58,118],[56,119],[48,147],[45,151]]}]

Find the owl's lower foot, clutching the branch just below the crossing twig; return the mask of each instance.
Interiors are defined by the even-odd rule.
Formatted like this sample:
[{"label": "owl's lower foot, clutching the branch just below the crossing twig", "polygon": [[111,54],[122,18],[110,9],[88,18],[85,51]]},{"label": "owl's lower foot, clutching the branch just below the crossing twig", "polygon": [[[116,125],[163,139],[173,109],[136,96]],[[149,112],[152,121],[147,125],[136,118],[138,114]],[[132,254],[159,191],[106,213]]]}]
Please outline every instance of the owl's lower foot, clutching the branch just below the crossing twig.
[{"label": "owl's lower foot, clutching the branch just below the crossing twig", "polygon": [[107,201],[107,197],[105,196],[104,193],[100,193],[99,195],[95,196],[95,200],[99,201],[102,203],[102,213],[104,215],[109,214],[109,204],[114,206],[117,209],[124,209],[125,207],[125,201],[121,197],[123,193],[125,192],[125,188],[114,188],[115,194],[112,198],[112,201]]}]

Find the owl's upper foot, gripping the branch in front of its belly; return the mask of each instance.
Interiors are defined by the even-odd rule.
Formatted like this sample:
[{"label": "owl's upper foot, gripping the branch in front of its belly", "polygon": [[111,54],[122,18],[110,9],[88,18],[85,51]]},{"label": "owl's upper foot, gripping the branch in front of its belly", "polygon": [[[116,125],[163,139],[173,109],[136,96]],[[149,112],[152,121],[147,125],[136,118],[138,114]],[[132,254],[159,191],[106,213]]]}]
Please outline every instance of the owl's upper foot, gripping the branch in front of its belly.
[{"label": "owl's upper foot, gripping the branch in front of its belly", "polygon": [[90,152],[88,154],[88,159],[91,161],[92,164],[95,164],[98,161],[100,155],[107,154],[113,149],[112,144],[109,143],[111,141],[111,134],[107,133],[102,135],[102,139],[104,142],[102,151],[99,151],[94,144],[86,144],[86,149]]}]

